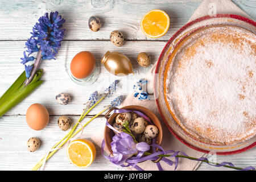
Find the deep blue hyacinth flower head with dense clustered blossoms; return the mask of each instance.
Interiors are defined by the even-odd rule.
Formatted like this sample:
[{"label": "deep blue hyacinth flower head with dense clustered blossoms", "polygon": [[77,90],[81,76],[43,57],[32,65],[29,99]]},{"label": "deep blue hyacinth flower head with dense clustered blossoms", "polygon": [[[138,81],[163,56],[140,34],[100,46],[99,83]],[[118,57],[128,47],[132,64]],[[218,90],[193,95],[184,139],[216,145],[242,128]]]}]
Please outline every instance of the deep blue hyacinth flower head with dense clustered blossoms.
[{"label": "deep blue hyacinth flower head with dense clustered blossoms", "polygon": [[[65,29],[61,29],[64,22],[65,20],[61,18],[57,11],[41,16],[32,28],[32,36],[26,42],[28,56],[31,53],[38,52],[40,49],[42,51],[42,59],[55,59],[57,49],[60,48],[60,42],[64,38]],[[32,57],[27,57],[24,54],[22,60],[24,64],[32,60]],[[30,76],[31,67],[30,69],[25,69],[25,71],[26,76]]]}]

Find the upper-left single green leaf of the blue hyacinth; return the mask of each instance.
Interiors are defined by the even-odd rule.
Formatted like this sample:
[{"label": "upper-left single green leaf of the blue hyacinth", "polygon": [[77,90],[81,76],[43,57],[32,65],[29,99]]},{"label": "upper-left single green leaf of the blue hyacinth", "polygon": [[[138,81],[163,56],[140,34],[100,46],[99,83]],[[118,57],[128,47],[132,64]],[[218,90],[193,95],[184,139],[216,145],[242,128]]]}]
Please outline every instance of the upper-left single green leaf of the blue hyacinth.
[{"label": "upper-left single green leaf of the blue hyacinth", "polygon": [[7,100],[10,96],[12,96],[19,88],[22,86],[23,82],[26,80],[25,71],[16,79],[13,85],[10,86],[8,90],[2,95],[0,98],[0,105]]}]

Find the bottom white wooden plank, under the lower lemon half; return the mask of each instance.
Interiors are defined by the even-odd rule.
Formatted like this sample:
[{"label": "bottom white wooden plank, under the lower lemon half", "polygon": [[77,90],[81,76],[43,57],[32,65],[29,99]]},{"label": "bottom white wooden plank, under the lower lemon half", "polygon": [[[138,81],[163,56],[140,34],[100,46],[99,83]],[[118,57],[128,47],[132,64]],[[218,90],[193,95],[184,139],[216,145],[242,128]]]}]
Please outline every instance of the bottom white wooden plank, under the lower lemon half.
[{"label": "bottom white wooden plank, under the lower lemon half", "polygon": [[[61,131],[57,126],[57,119],[60,115],[52,115],[47,127],[40,131],[31,130],[27,126],[26,116],[24,115],[7,115],[0,118],[0,171],[1,170],[30,170],[34,165],[46,154],[46,152],[65,134],[67,131]],[[72,122],[76,122],[79,116],[69,115]],[[91,117],[86,117],[81,123],[85,123]],[[85,127],[81,138],[90,139],[92,136],[103,131],[105,126],[105,118],[99,117],[94,119]],[[78,126],[79,128],[80,126]],[[30,137],[38,137],[42,141],[42,145],[35,152],[29,152],[26,148],[26,141]],[[78,137],[78,136],[76,136]],[[83,170],[73,166],[67,158],[66,146],[56,152],[55,155],[46,163],[46,170]],[[96,145],[96,160],[89,168],[84,170],[124,170],[115,166],[101,155],[100,147]],[[237,167],[255,167],[256,152],[255,148],[242,154],[229,156],[216,156],[209,158],[213,162],[232,162]],[[174,159],[172,159],[174,160]],[[202,163],[199,170],[231,170],[225,167],[212,167],[206,163]]]}]

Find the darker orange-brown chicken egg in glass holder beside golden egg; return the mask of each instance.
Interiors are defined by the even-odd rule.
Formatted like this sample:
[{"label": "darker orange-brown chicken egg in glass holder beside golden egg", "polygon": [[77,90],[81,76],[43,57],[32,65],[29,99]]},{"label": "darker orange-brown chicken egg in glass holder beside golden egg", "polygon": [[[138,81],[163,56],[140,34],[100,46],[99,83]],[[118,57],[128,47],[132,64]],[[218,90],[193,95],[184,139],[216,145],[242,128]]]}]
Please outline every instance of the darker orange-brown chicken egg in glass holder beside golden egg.
[{"label": "darker orange-brown chicken egg in glass holder beside golden egg", "polygon": [[70,71],[76,78],[88,77],[96,66],[96,60],[89,51],[82,51],[73,57],[70,64]]}]

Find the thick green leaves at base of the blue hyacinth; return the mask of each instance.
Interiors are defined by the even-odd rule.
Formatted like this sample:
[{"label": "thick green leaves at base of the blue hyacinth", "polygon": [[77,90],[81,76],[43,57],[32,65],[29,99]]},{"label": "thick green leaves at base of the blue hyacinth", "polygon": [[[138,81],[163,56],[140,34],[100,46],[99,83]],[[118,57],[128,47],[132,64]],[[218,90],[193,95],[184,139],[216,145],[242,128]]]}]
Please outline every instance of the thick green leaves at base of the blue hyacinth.
[{"label": "thick green leaves at base of the blue hyacinth", "polygon": [[24,98],[26,98],[35,88],[42,84],[42,80],[39,80],[43,75],[43,70],[36,71],[32,81],[27,86],[24,86],[26,80],[26,73],[23,72],[17,80],[10,86],[10,88],[0,98],[0,117],[14,106],[19,104]]}]

